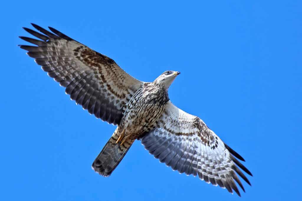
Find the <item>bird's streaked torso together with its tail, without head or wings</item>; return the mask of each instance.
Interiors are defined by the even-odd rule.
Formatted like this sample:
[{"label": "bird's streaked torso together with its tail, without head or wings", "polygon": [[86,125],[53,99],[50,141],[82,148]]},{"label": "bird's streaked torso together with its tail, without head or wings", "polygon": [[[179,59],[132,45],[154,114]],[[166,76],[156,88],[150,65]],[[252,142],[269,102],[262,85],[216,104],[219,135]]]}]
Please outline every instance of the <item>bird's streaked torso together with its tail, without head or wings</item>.
[{"label": "bird's streaked torso together with its tail, without head or wings", "polygon": [[143,83],[130,98],[120,124],[105,146],[106,149],[93,162],[92,168],[103,176],[109,176],[134,140],[156,128],[168,101],[168,91],[164,86],[156,82]]}]

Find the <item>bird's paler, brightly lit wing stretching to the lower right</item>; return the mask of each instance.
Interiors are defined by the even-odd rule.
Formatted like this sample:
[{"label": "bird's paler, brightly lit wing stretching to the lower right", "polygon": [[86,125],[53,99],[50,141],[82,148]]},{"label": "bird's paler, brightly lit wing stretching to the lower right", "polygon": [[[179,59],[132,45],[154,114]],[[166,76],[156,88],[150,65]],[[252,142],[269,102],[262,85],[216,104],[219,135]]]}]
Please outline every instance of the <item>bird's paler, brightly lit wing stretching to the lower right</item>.
[{"label": "bird's paler, brightly lit wing stretching to the lower right", "polygon": [[244,159],[224,144],[200,118],[168,102],[155,126],[141,137],[142,144],[173,170],[198,175],[201,180],[226,188],[230,193],[234,190],[239,196],[234,180],[245,190],[235,172],[251,185],[237,166],[252,174],[235,157]]}]

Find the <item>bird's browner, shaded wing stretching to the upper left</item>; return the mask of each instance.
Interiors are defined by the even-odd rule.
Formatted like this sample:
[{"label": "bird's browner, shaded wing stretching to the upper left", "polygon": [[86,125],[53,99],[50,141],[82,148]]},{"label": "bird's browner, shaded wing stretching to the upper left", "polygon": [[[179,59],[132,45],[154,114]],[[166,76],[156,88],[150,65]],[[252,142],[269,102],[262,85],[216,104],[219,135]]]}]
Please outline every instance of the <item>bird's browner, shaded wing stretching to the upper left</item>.
[{"label": "bird's browner, shaded wing stretching to the upper left", "polygon": [[37,45],[20,45],[28,51],[27,55],[35,58],[50,77],[66,87],[70,98],[90,114],[110,124],[119,124],[127,102],[142,82],[127,74],[111,58],[63,33],[49,27],[51,33],[32,25],[43,34],[24,28],[41,39],[20,36]]}]

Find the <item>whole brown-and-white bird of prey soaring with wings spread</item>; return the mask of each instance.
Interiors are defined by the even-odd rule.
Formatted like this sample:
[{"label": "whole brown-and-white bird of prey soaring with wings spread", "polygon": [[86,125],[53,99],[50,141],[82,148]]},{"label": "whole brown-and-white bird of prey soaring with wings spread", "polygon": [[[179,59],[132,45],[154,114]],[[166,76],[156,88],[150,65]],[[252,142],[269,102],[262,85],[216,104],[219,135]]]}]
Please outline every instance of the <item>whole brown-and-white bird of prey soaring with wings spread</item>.
[{"label": "whole brown-and-white bird of prey soaring with wings spread", "polygon": [[[251,172],[237,159],[244,159],[227,146],[197,116],[177,108],[168,89],[180,74],[165,71],[153,82],[131,77],[111,58],[49,27],[32,24],[41,33],[24,28],[38,39],[20,36],[36,46],[20,45],[42,69],[63,87],[76,104],[97,118],[117,125],[111,138],[92,163],[92,169],[108,177],[124,158],[133,142],[173,170],[193,174],[201,180],[233,190],[249,185]],[[236,159],[237,158],[237,159]],[[236,174],[237,173],[237,174]]]}]

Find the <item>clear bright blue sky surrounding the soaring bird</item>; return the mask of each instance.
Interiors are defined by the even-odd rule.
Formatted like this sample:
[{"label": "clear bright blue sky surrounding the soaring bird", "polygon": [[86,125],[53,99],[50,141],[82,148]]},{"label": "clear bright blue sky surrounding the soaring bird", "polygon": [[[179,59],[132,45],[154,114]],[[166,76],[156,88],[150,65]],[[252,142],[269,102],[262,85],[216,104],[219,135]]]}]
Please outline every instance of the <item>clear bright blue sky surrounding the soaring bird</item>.
[{"label": "clear bright blue sky surrounding the soaring bird", "polygon": [[[301,1],[2,2],[1,200],[299,200]],[[172,102],[242,155],[239,198],[133,144],[111,177],[91,164],[115,126],[70,101],[18,48],[51,26],[153,81],[181,71]]]}]

